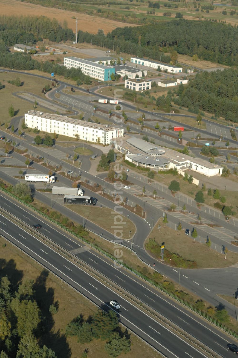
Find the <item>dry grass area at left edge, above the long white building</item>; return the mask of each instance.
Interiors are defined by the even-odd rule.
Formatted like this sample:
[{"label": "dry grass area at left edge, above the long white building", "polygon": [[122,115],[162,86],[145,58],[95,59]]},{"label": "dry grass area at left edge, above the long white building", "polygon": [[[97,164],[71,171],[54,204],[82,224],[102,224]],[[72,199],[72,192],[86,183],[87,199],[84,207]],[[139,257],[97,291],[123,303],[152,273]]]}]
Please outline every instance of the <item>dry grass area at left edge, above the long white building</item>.
[{"label": "dry grass area at left edge, above the long white building", "polygon": [[[23,82],[23,86],[16,87],[14,84],[8,83],[8,81],[14,80],[16,77],[20,78]],[[49,81],[42,78],[33,78],[29,75],[16,74],[10,72],[0,73],[0,82],[5,86],[1,89],[0,95],[0,107],[1,107],[1,123],[10,122],[11,118],[8,113],[8,108],[13,105],[16,116],[24,116],[24,113],[30,109],[33,109],[33,103],[30,103],[23,98],[13,96],[13,92],[31,92],[35,95],[42,96],[42,88],[49,83]],[[37,106],[38,111],[45,112],[45,108]],[[49,111],[53,113],[53,111]]]}]

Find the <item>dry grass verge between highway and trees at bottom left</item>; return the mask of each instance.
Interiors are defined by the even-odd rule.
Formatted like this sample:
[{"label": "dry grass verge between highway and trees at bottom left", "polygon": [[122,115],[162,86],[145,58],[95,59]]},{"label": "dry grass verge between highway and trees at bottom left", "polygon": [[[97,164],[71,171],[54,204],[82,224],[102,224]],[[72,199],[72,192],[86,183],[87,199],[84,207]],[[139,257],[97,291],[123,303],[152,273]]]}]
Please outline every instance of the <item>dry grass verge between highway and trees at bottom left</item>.
[{"label": "dry grass verge between highway and trees at bottom left", "polygon": [[[0,237],[1,247],[5,242]],[[48,274],[46,280],[43,280],[43,267],[8,242],[6,247],[1,249],[0,259],[1,276],[8,275],[11,282],[20,282],[22,279],[34,280],[40,284],[38,300],[46,305],[58,301],[59,310],[53,316],[52,332],[42,336],[44,344],[52,348],[58,358],[80,357],[85,347],[89,348],[88,358],[110,358],[104,350],[105,341],[93,340],[85,345],[77,343],[76,337],[66,338],[64,335],[65,326],[73,318],[82,313],[84,318],[87,319],[89,315],[93,315],[97,311],[96,306],[51,273]],[[126,355],[122,354],[120,357],[160,357],[152,348],[133,334],[131,341],[131,351]]]}]

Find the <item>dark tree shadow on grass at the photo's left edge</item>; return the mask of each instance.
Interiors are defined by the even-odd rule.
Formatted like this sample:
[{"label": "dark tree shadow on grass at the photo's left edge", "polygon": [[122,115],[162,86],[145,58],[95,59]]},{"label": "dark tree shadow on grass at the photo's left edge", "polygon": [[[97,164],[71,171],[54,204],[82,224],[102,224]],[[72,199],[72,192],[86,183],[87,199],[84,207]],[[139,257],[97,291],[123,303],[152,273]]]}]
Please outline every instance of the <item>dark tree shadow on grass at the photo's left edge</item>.
[{"label": "dark tree shadow on grass at the photo's left edge", "polygon": [[0,259],[0,278],[4,276],[8,276],[12,291],[17,291],[23,278],[23,271],[16,269],[14,260],[6,261],[3,258]]}]

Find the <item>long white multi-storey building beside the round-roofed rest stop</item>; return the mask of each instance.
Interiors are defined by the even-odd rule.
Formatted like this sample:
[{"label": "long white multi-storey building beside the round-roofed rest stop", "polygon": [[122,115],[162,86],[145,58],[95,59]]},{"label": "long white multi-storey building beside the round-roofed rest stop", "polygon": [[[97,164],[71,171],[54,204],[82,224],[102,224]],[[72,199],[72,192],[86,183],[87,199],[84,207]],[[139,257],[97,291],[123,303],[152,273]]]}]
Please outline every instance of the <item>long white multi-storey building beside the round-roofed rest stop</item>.
[{"label": "long white multi-storey building beside the round-roofed rest stop", "polygon": [[43,113],[30,110],[25,113],[25,124],[28,128],[37,128],[40,131],[56,133],[68,137],[75,137],[90,142],[110,144],[112,138],[123,137],[123,129],[112,126],[85,122],[62,115]]}]

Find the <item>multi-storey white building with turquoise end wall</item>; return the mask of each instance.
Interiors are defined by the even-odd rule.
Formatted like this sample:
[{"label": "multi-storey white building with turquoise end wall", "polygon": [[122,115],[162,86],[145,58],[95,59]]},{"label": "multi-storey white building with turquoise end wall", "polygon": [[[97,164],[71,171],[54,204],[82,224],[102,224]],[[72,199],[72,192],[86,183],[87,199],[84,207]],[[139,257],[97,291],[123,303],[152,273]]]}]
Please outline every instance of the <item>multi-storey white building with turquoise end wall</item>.
[{"label": "multi-storey white building with turquoise end wall", "polygon": [[115,74],[115,69],[113,67],[104,66],[74,56],[64,57],[64,66],[67,68],[80,68],[87,76],[100,79],[101,81],[110,81],[111,74]]}]

